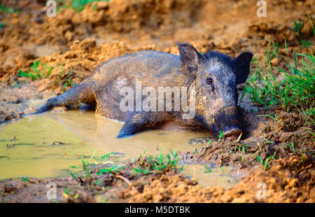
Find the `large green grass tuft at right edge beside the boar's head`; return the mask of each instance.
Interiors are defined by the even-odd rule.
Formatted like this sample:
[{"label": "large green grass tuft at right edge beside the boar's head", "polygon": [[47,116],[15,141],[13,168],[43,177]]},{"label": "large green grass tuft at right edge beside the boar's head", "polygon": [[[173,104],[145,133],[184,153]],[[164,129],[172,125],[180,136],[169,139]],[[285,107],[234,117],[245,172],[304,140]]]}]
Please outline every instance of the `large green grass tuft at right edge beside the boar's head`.
[{"label": "large green grass tuft at right edge beside the boar's head", "polygon": [[[286,69],[279,69],[270,64],[273,55],[267,53],[265,66],[261,66],[248,79],[245,91],[258,106],[282,109],[288,113],[297,112],[304,120],[304,125],[315,125],[315,57],[309,54],[293,54],[293,62],[283,64]],[[276,71],[276,73],[275,73]]]}]

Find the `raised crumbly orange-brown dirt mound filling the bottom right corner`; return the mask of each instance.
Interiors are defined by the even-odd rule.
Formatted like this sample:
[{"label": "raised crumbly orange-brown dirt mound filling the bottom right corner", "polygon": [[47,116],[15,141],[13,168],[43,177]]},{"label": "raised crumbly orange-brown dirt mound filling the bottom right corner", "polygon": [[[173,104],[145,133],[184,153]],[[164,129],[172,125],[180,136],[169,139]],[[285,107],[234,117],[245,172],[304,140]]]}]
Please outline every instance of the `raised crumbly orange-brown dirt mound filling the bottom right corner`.
[{"label": "raised crumbly orange-brown dirt mound filling the bottom right corner", "polygon": [[[236,196],[232,202],[315,202],[312,158],[287,157],[272,162],[272,167],[267,171],[260,169],[253,172],[235,190],[228,191]],[[265,199],[258,200],[258,183],[265,184]]]}]

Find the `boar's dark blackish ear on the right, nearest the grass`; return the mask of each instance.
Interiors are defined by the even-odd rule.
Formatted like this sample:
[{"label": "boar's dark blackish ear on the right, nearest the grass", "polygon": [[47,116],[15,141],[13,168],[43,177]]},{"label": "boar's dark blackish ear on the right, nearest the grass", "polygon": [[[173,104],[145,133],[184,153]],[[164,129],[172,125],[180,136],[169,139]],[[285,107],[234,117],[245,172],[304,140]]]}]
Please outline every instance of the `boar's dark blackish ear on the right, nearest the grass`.
[{"label": "boar's dark blackish ear on the right, nearest the grass", "polygon": [[253,54],[251,54],[251,52],[242,52],[233,60],[237,84],[245,83],[247,80],[249,66],[251,65],[251,58],[253,58]]}]

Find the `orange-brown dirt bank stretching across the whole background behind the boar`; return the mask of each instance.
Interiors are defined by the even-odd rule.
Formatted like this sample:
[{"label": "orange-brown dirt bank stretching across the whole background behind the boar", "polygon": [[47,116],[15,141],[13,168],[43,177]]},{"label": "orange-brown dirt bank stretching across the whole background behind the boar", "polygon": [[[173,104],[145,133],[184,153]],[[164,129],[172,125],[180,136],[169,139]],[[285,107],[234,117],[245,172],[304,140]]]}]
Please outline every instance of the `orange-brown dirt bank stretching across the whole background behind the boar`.
[{"label": "orange-brown dirt bank stretching across the whole background behind the boar", "polygon": [[[0,80],[10,84],[19,82],[18,70],[29,69],[34,60],[50,56],[53,52],[63,55],[76,41],[85,38],[95,38],[97,45],[114,40],[123,41],[130,49],[149,46],[172,53],[178,53],[176,42],[185,41],[193,43],[200,52],[214,49],[233,56],[242,50],[256,55],[265,53],[268,45],[276,41],[283,45],[287,38],[288,52],[292,55],[293,48],[300,50],[297,41],[312,34],[306,12],[314,10],[314,1],[310,0],[270,1],[267,18],[258,18],[257,6],[245,0],[113,0],[88,5],[80,13],[62,8],[56,18],[48,18],[42,3],[23,0],[17,5],[13,2],[8,1],[4,5],[11,5],[20,13],[0,16],[3,23],[0,29],[0,62],[3,63]],[[233,22],[230,22],[231,17]],[[299,33],[292,31],[294,21],[302,21]],[[284,47],[281,48],[282,54],[285,54]],[[103,52],[115,53],[116,49],[113,47]],[[124,50],[118,52],[118,55],[128,53]],[[111,57],[115,55],[92,58],[92,61],[94,59],[94,65],[97,65]],[[59,60],[53,62],[53,59],[48,59],[45,63],[65,64]],[[71,57],[67,63],[78,60]],[[92,68],[74,71],[83,79]]]}]

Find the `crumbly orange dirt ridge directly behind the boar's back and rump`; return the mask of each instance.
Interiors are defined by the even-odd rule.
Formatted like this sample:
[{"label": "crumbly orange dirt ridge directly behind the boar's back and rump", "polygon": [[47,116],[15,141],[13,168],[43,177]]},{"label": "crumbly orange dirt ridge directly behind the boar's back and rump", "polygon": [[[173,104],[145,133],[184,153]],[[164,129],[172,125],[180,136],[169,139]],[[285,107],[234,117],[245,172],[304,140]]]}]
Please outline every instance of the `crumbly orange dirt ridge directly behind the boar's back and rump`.
[{"label": "crumbly orange dirt ridge directly behind the boar's back and rump", "polygon": [[44,78],[38,83],[40,85],[39,90],[57,90],[61,93],[71,86],[63,88],[67,79],[71,79],[74,84],[80,83],[93,72],[92,69],[106,62],[106,60],[139,50],[155,50],[155,46],[128,48],[121,41],[109,41],[97,45],[94,38],[85,39],[81,42],[74,41],[69,51],[41,58],[42,62],[54,67],[54,69],[52,69],[49,78]]}]

